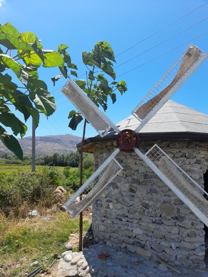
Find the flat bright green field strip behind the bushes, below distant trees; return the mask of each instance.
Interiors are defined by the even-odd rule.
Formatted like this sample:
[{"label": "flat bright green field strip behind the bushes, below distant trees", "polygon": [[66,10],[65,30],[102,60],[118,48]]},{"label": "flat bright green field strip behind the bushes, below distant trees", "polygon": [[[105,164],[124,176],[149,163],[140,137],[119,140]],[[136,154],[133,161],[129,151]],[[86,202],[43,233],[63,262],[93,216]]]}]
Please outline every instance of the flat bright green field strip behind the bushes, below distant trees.
[{"label": "flat bright green field strip behind the bushes, below distant trees", "polygon": [[[35,171],[40,172],[46,166],[36,166]],[[63,173],[64,167],[55,167],[59,172]],[[70,170],[74,171],[77,167],[72,167]],[[9,163],[0,163],[0,173],[11,174],[17,173],[18,171],[27,171],[31,172],[31,165],[22,165],[22,164],[9,164]]]}]

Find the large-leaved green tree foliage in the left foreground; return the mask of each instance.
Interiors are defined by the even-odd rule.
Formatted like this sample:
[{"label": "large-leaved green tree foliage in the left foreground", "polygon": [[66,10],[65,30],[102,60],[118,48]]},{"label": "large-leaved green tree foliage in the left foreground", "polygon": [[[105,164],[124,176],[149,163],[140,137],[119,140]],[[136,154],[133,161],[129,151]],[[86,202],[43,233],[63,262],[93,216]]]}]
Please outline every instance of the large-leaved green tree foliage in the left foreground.
[{"label": "large-leaved green tree foliage in the left foreground", "polygon": [[[39,79],[38,68],[59,66],[61,73],[67,78],[67,67],[77,69],[76,65],[71,63],[67,48],[67,45],[60,44],[58,51],[43,50],[41,41],[32,32],[19,33],[9,22],[0,24],[0,123],[10,127],[15,136],[20,134],[22,138],[26,134],[27,126],[11,112],[9,105],[13,105],[24,115],[25,122],[31,116],[36,128],[39,124],[39,113],[45,114],[46,117],[54,113],[54,97],[48,92],[46,83]],[[56,76],[56,80],[62,74]],[[71,74],[76,76],[76,71],[71,71]],[[52,78],[54,83],[56,80]],[[18,140],[2,125],[0,140],[23,160]]]}]

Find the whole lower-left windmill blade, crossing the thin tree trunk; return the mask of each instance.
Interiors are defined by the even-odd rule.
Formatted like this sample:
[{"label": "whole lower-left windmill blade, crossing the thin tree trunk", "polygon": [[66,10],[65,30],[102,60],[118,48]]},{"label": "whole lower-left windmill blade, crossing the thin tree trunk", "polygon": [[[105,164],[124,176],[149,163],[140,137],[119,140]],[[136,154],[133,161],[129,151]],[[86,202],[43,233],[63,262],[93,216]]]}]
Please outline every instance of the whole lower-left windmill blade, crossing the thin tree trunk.
[{"label": "whole lower-left windmill blade, crossing the thin tree trunk", "polygon": [[65,203],[64,206],[72,218],[95,202],[102,195],[108,183],[123,169],[114,158],[119,151],[117,148]]}]

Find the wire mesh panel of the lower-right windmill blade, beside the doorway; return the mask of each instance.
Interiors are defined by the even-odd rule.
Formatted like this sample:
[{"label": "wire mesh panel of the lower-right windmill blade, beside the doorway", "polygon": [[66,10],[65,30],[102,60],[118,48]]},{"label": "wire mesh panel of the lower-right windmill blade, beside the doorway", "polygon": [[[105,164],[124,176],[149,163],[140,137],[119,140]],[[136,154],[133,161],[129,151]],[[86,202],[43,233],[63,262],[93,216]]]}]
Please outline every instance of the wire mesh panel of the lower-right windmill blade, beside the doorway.
[{"label": "wire mesh panel of the lower-right windmill blade, beside the doorway", "polygon": [[177,191],[183,194],[184,198],[189,200],[195,208],[208,217],[208,194],[206,191],[191,179],[190,176],[157,145],[154,145],[145,155],[160,169]]}]

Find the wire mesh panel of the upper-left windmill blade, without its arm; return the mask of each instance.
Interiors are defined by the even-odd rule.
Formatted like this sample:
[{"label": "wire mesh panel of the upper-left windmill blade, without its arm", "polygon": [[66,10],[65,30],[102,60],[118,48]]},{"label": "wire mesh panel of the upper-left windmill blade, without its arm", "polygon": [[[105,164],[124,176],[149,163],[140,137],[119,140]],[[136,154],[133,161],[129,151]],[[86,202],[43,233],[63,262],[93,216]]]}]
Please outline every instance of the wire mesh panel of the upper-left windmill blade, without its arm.
[{"label": "wire mesh panel of the upper-left windmill blade, without its arm", "polygon": [[109,126],[102,115],[94,109],[93,105],[90,103],[92,100],[89,98],[87,101],[84,97],[84,92],[76,89],[76,86],[76,84],[72,85],[70,80],[68,80],[61,91],[99,134],[106,133],[111,126]]}]

